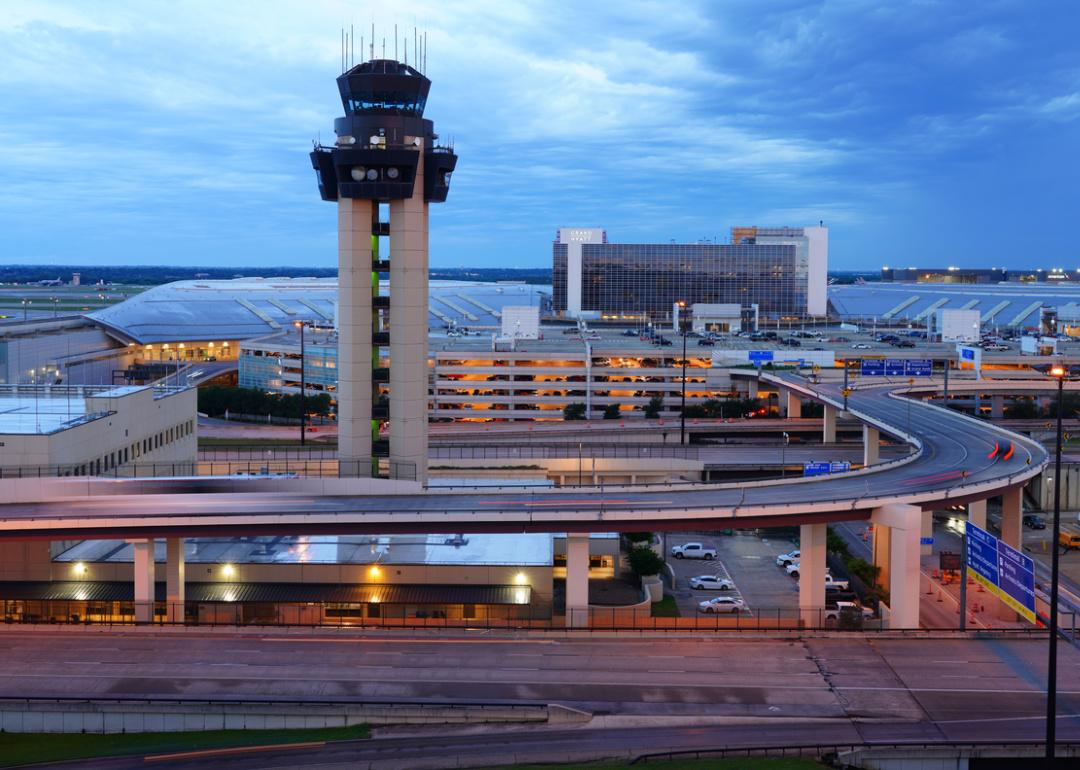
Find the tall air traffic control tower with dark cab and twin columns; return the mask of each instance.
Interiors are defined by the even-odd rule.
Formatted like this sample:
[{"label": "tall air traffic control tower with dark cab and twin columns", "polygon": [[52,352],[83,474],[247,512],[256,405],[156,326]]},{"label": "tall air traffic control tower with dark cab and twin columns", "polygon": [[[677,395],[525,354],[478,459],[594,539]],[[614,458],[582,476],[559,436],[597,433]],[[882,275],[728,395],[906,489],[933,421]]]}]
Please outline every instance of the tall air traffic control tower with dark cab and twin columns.
[{"label": "tall air traffic control tower with dark cab and twin columns", "polygon": [[[424,482],[428,204],[446,200],[458,159],[423,117],[431,81],[415,68],[372,58],[337,83],[345,117],[334,121],[334,146],[316,145],[311,165],[323,200],[338,204],[340,473],[377,475],[389,457],[392,478]],[[380,273],[390,273],[389,296],[380,296]],[[388,419],[386,442],[379,427]]]}]

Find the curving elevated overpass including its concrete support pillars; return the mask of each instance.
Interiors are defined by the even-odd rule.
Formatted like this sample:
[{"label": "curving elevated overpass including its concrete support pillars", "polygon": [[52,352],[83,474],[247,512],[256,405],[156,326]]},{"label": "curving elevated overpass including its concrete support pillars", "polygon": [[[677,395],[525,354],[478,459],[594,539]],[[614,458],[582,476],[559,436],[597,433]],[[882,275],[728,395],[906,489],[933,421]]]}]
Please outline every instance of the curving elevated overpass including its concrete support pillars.
[{"label": "curving elevated overpass including its concrete support pillars", "polygon": [[[792,375],[762,375],[785,393],[824,404],[824,432],[843,409],[838,386]],[[792,396],[794,398],[794,395]],[[424,490],[387,479],[157,479],[11,482],[0,533],[18,540],[136,540],[135,597],[152,606],[151,539],[166,538],[168,594],[183,602],[183,538],[210,535],[568,531],[568,622],[588,622],[588,532],[801,526],[799,606],[824,604],[825,526],[870,521],[889,575],[891,622],[918,625],[918,559],[926,512],[1001,496],[1002,538],[1017,541],[1020,490],[1047,462],[1042,446],[993,424],[899,397],[889,387],[850,394],[847,413],[864,424],[867,446],[879,432],[916,447],[899,460],[837,476],[640,488]],[[1008,441],[1009,460],[986,447]],[[974,508],[973,508],[974,510]],[[985,510],[985,509],[984,509]],[[985,513],[984,513],[985,515]],[[1015,533],[1015,537],[1014,537]],[[147,604],[149,603],[149,604]]]}]

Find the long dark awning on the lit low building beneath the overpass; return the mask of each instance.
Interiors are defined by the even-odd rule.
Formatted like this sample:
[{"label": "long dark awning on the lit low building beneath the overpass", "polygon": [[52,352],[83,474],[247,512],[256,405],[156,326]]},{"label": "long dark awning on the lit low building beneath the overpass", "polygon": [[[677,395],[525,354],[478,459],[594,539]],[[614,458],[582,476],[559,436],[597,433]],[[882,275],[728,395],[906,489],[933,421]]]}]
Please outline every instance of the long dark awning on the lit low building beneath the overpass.
[{"label": "long dark awning on the lit low building beneath the overpass", "polygon": [[[165,584],[154,585],[165,600]],[[126,581],[0,581],[4,599],[54,602],[132,602],[134,583]],[[188,583],[188,602],[355,603],[391,605],[521,605],[528,604],[528,585],[454,585],[357,583]]]}]

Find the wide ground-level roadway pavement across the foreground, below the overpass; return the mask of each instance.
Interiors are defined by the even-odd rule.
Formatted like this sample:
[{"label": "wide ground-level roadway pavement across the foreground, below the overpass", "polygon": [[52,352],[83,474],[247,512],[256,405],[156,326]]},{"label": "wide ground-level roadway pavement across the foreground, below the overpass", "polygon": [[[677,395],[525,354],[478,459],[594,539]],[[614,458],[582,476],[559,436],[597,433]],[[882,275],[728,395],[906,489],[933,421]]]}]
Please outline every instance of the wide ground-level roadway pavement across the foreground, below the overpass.
[{"label": "wide ground-level roadway pavement across the foreground, below the overpass", "polygon": [[[1067,646],[1059,654],[1059,734],[1078,740],[1080,651]],[[437,758],[449,765],[456,754],[522,761],[577,749],[603,757],[718,745],[1038,738],[1044,680],[1044,638],[0,631],[4,697],[500,700],[605,715],[573,728],[445,728],[426,739],[381,732],[375,741],[300,754],[175,765],[185,768],[368,759],[404,767]]]}]

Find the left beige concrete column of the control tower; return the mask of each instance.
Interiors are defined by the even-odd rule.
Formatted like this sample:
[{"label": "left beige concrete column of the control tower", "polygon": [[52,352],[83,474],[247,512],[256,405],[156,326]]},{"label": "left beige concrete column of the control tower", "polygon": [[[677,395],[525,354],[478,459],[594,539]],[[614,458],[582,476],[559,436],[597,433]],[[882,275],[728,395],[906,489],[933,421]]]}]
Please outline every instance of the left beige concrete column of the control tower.
[{"label": "left beige concrete column of the control tower", "polygon": [[372,473],[372,224],[378,204],[338,199],[338,458],[342,476]]}]

